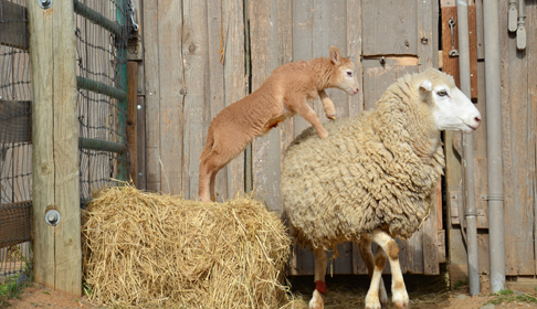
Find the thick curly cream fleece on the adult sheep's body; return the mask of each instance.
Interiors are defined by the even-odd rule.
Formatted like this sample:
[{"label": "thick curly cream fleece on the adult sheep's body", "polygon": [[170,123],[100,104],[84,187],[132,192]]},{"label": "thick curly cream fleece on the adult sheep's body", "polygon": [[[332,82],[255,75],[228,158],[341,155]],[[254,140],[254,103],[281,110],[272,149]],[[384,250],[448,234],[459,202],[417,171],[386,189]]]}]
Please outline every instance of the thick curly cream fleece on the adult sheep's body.
[{"label": "thick curly cream fleece on the adult sheep's body", "polygon": [[337,252],[376,227],[403,239],[419,228],[444,167],[432,94],[419,94],[424,78],[455,87],[438,70],[406,75],[376,108],[327,124],[328,138],[309,128],[289,145],[281,190],[299,244]]}]

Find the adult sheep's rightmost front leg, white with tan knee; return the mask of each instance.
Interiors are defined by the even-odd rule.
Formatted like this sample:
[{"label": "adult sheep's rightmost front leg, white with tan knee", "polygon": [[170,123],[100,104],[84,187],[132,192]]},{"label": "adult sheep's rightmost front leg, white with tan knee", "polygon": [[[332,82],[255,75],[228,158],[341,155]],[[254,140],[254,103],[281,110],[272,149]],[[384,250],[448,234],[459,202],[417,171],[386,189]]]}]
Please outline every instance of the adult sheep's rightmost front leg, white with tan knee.
[{"label": "adult sheep's rightmost front leg, white with tan knee", "polygon": [[399,309],[409,308],[409,295],[407,294],[401,266],[399,265],[399,246],[388,233],[380,228],[373,231],[372,241],[388,254],[391,266],[391,294],[393,303]]}]

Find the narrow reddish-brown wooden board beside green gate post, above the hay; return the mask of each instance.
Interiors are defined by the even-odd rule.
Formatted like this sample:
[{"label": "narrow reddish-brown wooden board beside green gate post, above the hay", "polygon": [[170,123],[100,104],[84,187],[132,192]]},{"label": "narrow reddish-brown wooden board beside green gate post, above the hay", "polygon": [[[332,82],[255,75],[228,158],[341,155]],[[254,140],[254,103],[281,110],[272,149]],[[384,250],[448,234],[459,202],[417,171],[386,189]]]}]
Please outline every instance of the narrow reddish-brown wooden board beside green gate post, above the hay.
[{"label": "narrow reddish-brown wooden board beside green gate post, above the hay", "polygon": [[138,188],[138,63],[127,62],[127,143],[129,181]]}]

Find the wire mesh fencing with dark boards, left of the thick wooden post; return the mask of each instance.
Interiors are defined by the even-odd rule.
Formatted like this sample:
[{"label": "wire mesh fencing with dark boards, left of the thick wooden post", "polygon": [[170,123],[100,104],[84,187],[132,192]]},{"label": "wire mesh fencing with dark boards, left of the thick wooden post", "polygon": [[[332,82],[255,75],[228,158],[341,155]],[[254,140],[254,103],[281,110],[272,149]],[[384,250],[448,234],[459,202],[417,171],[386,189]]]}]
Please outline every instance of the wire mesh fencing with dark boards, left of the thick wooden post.
[{"label": "wire mesh fencing with dark boards, left of the thick wooden post", "polygon": [[0,297],[15,295],[32,270],[31,89],[25,4],[25,0],[0,1]]}]

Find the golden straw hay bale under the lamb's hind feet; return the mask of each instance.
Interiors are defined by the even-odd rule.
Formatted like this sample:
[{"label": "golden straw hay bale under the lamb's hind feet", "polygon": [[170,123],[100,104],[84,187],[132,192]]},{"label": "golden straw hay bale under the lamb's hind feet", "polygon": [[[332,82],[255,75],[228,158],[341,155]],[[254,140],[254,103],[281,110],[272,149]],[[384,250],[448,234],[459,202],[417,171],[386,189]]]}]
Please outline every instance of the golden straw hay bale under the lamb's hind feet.
[{"label": "golden straw hay bale under the lamb's hind feet", "polygon": [[249,195],[206,204],[112,188],[84,212],[82,234],[85,281],[99,305],[288,305],[281,281],[291,238],[278,216]]}]

